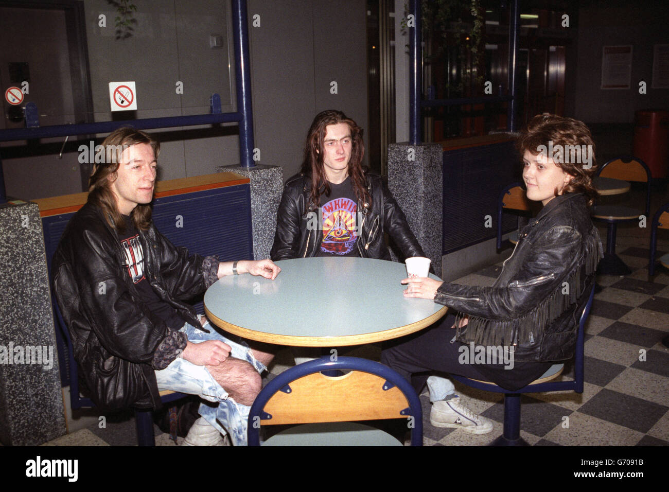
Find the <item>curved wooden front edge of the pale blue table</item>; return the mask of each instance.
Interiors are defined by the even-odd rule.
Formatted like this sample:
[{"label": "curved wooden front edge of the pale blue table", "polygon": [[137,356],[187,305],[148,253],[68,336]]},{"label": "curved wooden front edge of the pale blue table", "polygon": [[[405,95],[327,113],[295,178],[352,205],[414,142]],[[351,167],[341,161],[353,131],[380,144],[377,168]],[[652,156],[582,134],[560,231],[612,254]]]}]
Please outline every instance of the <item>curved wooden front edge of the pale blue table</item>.
[{"label": "curved wooden front edge of the pale blue table", "polygon": [[344,335],[341,337],[302,337],[297,335],[278,335],[276,333],[265,333],[264,331],[256,331],[247,328],[242,328],[237,325],[232,325],[223,321],[219,317],[213,315],[205,305],[205,313],[207,318],[220,329],[239,335],[243,338],[248,338],[255,341],[262,341],[264,343],[273,343],[274,345],[287,345],[292,347],[345,347],[348,345],[363,345],[364,343],[373,343],[376,341],[391,340],[393,338],[402,337],[415,333],[446,314],[448,307],[443,306],[442,309],[436,313],[429,315],[427,318],[415,321],[409,325],[404,325],[397,328],[391,328],[384,331],[375,331],[373,333],[362,333],[361,335]]}]

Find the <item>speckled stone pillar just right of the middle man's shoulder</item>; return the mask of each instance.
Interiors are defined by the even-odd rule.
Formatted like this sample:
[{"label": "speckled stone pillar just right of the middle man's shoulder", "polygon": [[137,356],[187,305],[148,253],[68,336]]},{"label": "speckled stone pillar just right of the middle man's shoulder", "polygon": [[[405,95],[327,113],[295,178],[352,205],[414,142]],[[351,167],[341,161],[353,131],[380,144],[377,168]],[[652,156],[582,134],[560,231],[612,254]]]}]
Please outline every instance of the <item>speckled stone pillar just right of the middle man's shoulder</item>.
[{"label": "speckled stone pillar just right of the middle man's shoulder", "polygon": [[388,187],[437,276],[442,276],[442,160],[440,144],[388,145]]}]

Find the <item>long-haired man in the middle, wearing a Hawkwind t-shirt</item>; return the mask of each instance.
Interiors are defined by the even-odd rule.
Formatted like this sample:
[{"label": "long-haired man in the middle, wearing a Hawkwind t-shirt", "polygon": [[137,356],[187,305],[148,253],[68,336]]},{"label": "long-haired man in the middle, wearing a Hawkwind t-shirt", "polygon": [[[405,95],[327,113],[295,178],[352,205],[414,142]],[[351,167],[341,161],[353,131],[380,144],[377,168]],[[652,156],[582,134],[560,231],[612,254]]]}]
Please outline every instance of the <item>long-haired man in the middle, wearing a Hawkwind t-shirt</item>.
[{"label": "long-haired man in the middle, wearing a Hawkwind t-shirt", "polygon": [[381,177],[363,169],[363,130],[343,112],[314,118],[298,175],[286,181],[272,260],[361,256],[390,260],[384,234],[406,258],[425,256]]}]

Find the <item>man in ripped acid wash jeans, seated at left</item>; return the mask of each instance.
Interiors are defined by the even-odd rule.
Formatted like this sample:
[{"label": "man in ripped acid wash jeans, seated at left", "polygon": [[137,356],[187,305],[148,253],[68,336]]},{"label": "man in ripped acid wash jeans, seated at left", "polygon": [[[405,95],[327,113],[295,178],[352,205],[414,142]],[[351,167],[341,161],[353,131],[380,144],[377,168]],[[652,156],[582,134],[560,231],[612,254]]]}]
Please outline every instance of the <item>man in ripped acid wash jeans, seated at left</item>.
[{"label": "man in ripped acid wash jeans, seated at left", "polygon": [[102,147],[88,201],[53,264],[79,374],[100,408],[156,408],[162,390],[197,394],[212,403],[201,404],[187,444],[221,444],[226,430],[233,444],[245,444],[249,406],[272,355],[223,337],[184,301],[221,276],[273,280],[280,268],[175,248],[151,221],[158,141],[121,128]]}]

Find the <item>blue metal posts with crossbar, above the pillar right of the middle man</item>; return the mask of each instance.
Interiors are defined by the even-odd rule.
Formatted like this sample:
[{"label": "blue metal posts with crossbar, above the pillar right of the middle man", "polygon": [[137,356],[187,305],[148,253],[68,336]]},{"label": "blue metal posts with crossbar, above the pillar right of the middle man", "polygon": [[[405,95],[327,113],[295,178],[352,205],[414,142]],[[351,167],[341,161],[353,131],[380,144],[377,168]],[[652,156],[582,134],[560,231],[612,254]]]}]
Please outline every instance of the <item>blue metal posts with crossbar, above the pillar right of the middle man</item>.
[{"label": "blue metal posts with crossbar, above the pillar right of the middle man", "polygon": [[409,144],[421,141],[421,108],[434,106],[455,106],[459,104],[482,104],[508,101],[506,121],[508,131],[516,131],[516,62],[518,60],[518,0],[510,2],[510,23],[508,33],[508,95],[478,98],[450,98],[421,100],[422,52],[421,52],[421,1],[409,2],[409,14],[413,15],[414,27],[409,29]]}]

